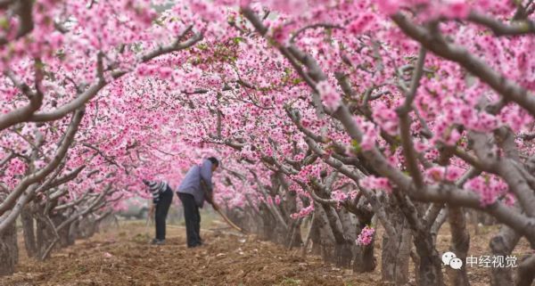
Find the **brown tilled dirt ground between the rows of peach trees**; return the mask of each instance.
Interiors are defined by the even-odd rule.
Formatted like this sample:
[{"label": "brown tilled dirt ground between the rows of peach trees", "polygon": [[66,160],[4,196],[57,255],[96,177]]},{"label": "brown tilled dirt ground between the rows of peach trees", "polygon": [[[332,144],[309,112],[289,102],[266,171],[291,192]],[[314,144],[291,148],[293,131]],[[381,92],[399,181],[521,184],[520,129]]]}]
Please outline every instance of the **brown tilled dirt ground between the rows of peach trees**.
[{"label": "brown tilled dirt ground between the rows of peach trees", "polygon": [[[448,225],[443,228],[440,253],[448,249],[450,239]],[[472,235],[469,255],[490,254],[488,241],[497,231],[495,226],[483,227],[479,235]],[[70,248],[55,250],[45,262],[25,257],[21,242],[17,272],[0,278],[0,285],[381,285],[380,239],[375,242],[376,271],[352,274],[319,257],[301,257],[300,249],[284,249],[253,235],[205,230],[207,245],[187,249],[182,226],[169,225],[168,243],[163,246],[147,244],[149,233],[152,227],[142,222],[121,222]],[[522,241],[514,255],[520,258],[527,251],[531,250]],[[468,274],[473,285],[489,285],[487,269],[470,268]]]}]

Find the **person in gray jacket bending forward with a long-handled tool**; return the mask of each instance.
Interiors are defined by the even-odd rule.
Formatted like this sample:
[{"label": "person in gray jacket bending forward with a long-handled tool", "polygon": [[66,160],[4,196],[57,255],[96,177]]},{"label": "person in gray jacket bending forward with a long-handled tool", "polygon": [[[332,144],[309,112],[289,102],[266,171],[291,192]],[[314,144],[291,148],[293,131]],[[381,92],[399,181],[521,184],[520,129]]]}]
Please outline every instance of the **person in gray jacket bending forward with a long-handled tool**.
[{"label": "person in gray jacket bending forward with a long-handled tool", "polygon": [[187,171],[178,187],[177,195],[184,207],[185,234],[188,248],[202,245],[199,208],[204,205],[204,200],[208,201],[214,209],[217,210],[219,208],[213,199],[212,190],[212,173],[218,166],[218,159],[214,157],[204,159],[202,165],[195,165]]}]

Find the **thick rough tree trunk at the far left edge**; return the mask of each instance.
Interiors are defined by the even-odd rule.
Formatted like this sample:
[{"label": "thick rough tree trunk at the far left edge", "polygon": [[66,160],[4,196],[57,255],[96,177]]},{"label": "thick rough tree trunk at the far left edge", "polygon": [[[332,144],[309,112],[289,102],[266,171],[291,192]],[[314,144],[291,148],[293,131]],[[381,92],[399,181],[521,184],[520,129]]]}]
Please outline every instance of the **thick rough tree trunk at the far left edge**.
[{"label": "thick rough tree trunk at the far left edge", "polygon": [[[7,214],[9,212],[4,214],[4,217],[7,217]],[[13,222],[6,228],[4,233],[0,234],[0,276],[13,274],[18,262],[17,227]]]}]

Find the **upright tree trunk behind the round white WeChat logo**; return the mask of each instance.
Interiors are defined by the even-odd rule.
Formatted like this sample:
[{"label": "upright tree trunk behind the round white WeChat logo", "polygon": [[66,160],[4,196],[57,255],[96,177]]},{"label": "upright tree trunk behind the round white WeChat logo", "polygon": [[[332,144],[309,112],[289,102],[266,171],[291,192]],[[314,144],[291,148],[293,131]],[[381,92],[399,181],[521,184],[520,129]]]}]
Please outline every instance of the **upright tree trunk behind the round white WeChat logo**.
[{"label": "upright tree trunk behind the round white WeChat logo", "polygon": [[[457,258],[463,262],[466,261],[468,249],[470,248],[470,233],[466,230],[465,212],[462,208],[449,208],[449,226],[451,231],[450,250],[455,253]],[[449,283],[452,286],[469,286],[466,266],[461,269],[448,269]]]}]

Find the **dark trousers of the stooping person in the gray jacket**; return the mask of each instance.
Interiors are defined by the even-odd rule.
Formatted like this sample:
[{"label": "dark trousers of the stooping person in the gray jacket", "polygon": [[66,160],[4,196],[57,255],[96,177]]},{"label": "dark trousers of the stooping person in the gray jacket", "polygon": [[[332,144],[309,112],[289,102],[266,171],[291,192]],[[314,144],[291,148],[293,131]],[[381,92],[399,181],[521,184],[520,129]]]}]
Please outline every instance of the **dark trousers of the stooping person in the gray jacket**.
[{"label": "dark trousers of the stooping person in the gray jacket", "polygon": [[184,207],[187,247],[192,248],[201,245],[201,215],[199,214],[199,207],[197,207],[192,194],[178,192],[178,198],[182,200],[182,206]]}]

